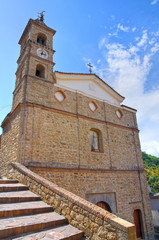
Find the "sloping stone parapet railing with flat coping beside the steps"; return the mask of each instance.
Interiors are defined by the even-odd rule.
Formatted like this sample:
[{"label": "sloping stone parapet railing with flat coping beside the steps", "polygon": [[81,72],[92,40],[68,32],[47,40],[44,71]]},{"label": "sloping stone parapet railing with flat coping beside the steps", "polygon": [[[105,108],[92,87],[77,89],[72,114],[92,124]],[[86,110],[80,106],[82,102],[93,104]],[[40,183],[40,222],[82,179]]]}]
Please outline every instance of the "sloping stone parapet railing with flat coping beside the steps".
[{"label": "sloping stone parapet railing with flat coping beside the steps", "polygon": [[55,212],[62,214],[74,227],[82,230],[90,240],[135,240],[135,226],[116,215],[58,187],[40,177],[20,163],[8,166],[8,177],[26,184],[51,205]]}]

